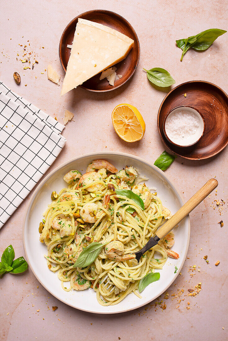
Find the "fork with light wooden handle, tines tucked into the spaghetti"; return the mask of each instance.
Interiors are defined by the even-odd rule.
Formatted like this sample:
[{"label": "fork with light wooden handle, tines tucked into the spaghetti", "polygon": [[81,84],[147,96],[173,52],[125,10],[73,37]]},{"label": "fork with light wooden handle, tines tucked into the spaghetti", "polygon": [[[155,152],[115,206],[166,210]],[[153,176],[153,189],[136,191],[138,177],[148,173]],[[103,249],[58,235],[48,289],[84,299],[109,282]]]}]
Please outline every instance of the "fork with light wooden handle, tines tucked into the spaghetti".
[{"label": "fork with light wooden handle, tines tucked into the spaghetti", "polygon": [[[209,195],[216,187],[218,186],[218,181],[216,179],[208,180],[203,187],[199,189],[169,220],[167,220],[162,227],[156,232],[156,234],[149,239],[146,245],[139,251],[135,252],[135,259],[139,262],[142,255],[150,250],[153,246],[157,245],[159,240],[163,239],[172,229],[188,214],[196,208],[206,197]],[[108,279],[108,275],[103,278],[100,284],[104,283],[104,281]],[[107,287],[107,290],[113,285],[111,280],[108,279],[104,286]],[[110,290],[110,293],[115,289],[115,285]]]}]

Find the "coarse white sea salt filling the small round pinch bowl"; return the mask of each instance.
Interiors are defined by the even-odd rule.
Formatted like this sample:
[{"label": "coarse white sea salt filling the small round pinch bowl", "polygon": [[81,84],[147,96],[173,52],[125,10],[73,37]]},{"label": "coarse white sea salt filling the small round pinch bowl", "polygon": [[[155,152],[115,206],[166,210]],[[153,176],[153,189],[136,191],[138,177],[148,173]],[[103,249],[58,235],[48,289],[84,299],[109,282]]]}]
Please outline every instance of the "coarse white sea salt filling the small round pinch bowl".
[{"label": "coarse white sea salt filling the small round pinch bowl", "polygon": [[[165,132],[169,139],[178,145],[188,146],[195,143],[202,135],[203,120],[192,108],[174,109],[165,122]],[[201,122],[202,121],[202,122]]]}]

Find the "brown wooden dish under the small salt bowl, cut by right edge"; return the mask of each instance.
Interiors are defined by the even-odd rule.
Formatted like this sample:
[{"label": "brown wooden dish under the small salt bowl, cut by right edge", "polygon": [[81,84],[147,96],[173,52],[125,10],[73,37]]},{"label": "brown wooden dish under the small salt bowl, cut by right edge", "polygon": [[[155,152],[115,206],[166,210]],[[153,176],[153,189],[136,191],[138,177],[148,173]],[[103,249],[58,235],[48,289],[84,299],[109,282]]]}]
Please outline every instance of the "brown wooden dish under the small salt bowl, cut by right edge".
[{"label": "brown wooden dish under the small salt bowl, cut by right edge", "polygon": [[[186,97],[184,94],[186,93]],[[189,148],[174,146],[165,137],[163,121],[177,106],[192,106],[205,120],[205,132],[200,141]],[[211,158],[228,144],[228,95],[217,85],[203,80],[192,80],[172,89],[158,110],[158,131],[165,146],[174,154],[189,160]]]}]

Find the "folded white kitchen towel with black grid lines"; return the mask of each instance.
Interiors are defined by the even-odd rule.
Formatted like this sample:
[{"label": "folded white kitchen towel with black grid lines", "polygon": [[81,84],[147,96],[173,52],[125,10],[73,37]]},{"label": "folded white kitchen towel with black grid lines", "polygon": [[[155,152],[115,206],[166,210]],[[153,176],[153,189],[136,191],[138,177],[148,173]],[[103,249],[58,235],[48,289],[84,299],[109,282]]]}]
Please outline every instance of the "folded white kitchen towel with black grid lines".
[{"label": "folded white kitchen towel with black grid lines", "polygon": [[0,81],[0,228],[64,147],[63,129]]}]

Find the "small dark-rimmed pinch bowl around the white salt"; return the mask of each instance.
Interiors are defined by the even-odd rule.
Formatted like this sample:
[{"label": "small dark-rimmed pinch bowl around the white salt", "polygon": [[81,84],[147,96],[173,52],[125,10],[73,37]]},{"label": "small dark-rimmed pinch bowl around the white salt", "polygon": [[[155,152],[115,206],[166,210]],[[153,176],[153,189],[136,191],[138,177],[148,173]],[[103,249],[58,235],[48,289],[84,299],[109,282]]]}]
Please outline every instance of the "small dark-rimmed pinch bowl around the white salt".
[{"label": "small dark-rimmed pinch bowl around the white salt", "polygon": [[[199,118],[199,120],[201,121],[201,128],[202,128],[201,131],[202,131],[202,134],[201,134],[201,136],[200,136],[195,142],[193,142],[193,143],[191,143],[191,144],[189,144],[189,145],[180,145],[180,144],[174,143],[174,142],[169,138],[169,136],[167,135],[167,133],[166,133],[166,131],[165,131],[165,122],[166,122],[168,116],[169,116],[171,113],[173,113],[174,110],[176,110],[176,109],[179,109],[179,110],[180,110],[180,109],[182,109],[182,108],[184,108],[184,109],[185,109],[185,108],[190,109],[191,112],[193,112],[195,115],[197,115],[198,118]],[[193,107],[188,106],[188,105],[182,105],[182,106],[178,106],[178,107],[175,107],[175,108],[173,108],[172,110],[170,110],[170,112],[169,112],[169,113],[165,116],[165,118],[164,118],[162,128],[163,128],[163,133],[164,133],[166,139],[167,139],[172,145],[177,146],[177,147],[180,147],[180,148],[189,148],[189,147],[192,147],[193,145],[197,144],[197,143],[199,142],[199,140],[203,137],[203,134],[204,134],[204,132],[205,132],[205,120],[204,120],[203,115],[202,115],[202,114],[199,112],[199,110],[197,110],[196,108],[193,108]]]}]

